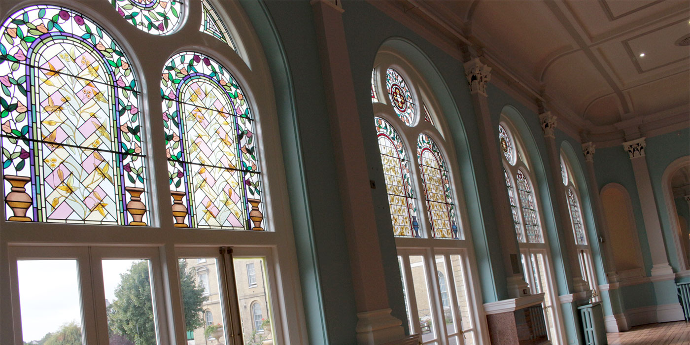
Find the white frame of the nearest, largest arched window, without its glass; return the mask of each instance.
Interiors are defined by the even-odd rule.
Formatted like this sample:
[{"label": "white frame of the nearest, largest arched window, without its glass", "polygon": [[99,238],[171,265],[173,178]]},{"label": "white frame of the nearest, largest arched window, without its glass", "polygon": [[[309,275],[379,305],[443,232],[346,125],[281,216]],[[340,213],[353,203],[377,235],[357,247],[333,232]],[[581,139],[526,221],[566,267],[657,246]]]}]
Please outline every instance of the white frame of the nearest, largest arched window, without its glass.
[{"label": "white frame of the nearest, largest arched window, without its glass", "polygon": [[[218,246],[256,247],[253,252],[267,257],[268,281],[271,286],[273,299],[274,339],[282,344],[305,344],[306,321],[304,306],[299,289],[299,274],[297,270],[297,255],[289,208],[280,207],[288,204],[288,194],[282,150],[279,135],[277,106],[274,96],[270,70],[255,28],[244,12],[242,5],[234,1],[212,1],[219,17],[224,20],[230,34],[233,35],[237,53],[222,41],[210,39],[208,34],[199,31],[201,21],[201,3],[186,1],[186,22],[175,33],[175,39],[166,39],[151,35],[140,30],[132,30],[131,24],[117,16],[112,6],[85,1],[79,3],[78,12],[97,21],[108,30],[112,37],[121,45],[124,52],[132,61],[132,68],[137,73],[137,81],[142,87],[139,105],[142,110],[142,136],[146,138],[144,148],[147,152],[146,164],[149,171],[148,193],[150,199],[144,200],[150,224],[146,227],[133,226],[97,226],[89,224],[46,224],[34,222],[6,221],[6,208],[0,208],[0,252],[28,248],[26,253],[35,253],[47,245],[50,250],[43,253],[59,253],[56,257],[75,257],[84,259],[83,246],[95,247],[118,246],[124,248],[155,248],[155,255],[149,259],[160,262],[159,266],[152,264],[157,274],[152,279],[152,285],[157,290],[154,298],[157,301],[156,313],[160,313],[159,333],[161,344],[175,344],[186,340],[184,317],[182,316],[179,275],[177,257],[180,246],[199,246],[211,248],[217,253]],[[35,1],[23,1],[0,8],[0,17],[8,17],[15,11],[35,4]],[[52,0],[50,3],[66,8],[76,8],[77,4],[69,0]],[[107,5],[107,4],[106,4]],[[232,21],[228,13],[233,13]],[[124,34],[126,33],[126,36]],[[199,48],[199,42],[206,46]],[[155,46],[157,54],[146,53],[147,48]],[[257,150],[259,150],[259,165],[262,167],[262,186],[264,188],[262,226],[266,231],[233,231],[229,236],[226,230],[200,230],[190,228],[174,228],[172,210],[170,208],[170,193],[168,186],[167,158],[156,152],[165,152],[164,133],[161,122],[156,114],[160,114],[161,99],[159,96],[161,66],[164,61],[176,52],[183,50],[199,50],[213,57],[221,63],[230,74],[239,81],[250,108],[255,114],[255,130]],[[142,52],[142,53],[137,53]],[[0,187],[1,193],[6,191]],[[268,252],[264,253],[268,249]],[[128,249],[127,249],[128,250]],[[263,251],[262,251],[263,250]],[[21,252],[21,250],[20,250]],[[242,252],[242,250],[239,250]],[[25,253],[21,253],[25,255]],[[20,257],[23,257],[21,256]],[[41,256],[42,254],[34,254]],[[256,254],[254,254],[256,255]],[[199,255],[198,257],[213,257]],[[279,260],[277,259],[279,258]],[[80,260],[81,260],[80,259]],[[80,264],[81,265],[81,264]],[[12,303],[19,301],[16,281],[16,257],[3,255],[0,257],[0,267],[14,267],[14,278],[10,269],[0,269],[0,299]],[[80,266],[79,274],[83,299],[91,298],[93,288],[90,275],[97,277],[96,268],[90,267],[85,271]],[[177,278],[176,278],[177,277]],[[15,279],[15,280],[12,280]],[[277,280],[278,279],[278,280]],[[14,284],[14,286],[12,285]],[[91,284],[91,285],[90,285]],[[86,295],[84,295],[86,294]],[[181,297],[179,297],[181,298]],[[88,302],[88,301],[87,301]],[[83,304],[84,313],[92,310],[92,302]],[[12,308],[3,307],[0,318],[4,320],[19,320],[18,303],[12,303]],[[95,339],[97,324],[107,321],[104,314],[84,316],[83,327],[88,344],[97,342],[107,344],[107,339]],[[237,321],[239,322],[239,320]],[[14,339],[15,345],[21,345],[21,323],[3,322],[0,325],[0,338]],[[101,328],[99,328],[101,329]],[[290,330],[288,333],[287,330]],[[99,334],[107,336],[107,331]],[[229,345],[229,344],[228,344]]]}]

